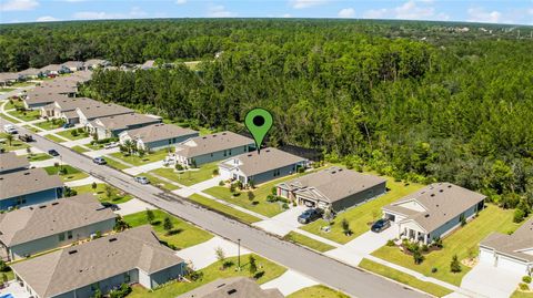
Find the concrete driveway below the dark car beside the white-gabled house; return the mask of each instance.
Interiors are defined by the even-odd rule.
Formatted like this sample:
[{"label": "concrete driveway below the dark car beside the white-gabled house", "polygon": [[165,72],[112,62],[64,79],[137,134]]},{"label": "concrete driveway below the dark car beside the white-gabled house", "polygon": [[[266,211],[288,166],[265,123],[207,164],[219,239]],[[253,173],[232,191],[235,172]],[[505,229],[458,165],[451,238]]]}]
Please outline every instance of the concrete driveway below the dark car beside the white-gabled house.
[{"label": "concrete driveway below the dark car beside the white-gabled house", "polygon": [[394,228],[388,228],[381,233],[369,230],[348,244],[324,253],[326,256],[358,266],[361,259],[372,251],[382,247],[389,239],[395,236]]}]

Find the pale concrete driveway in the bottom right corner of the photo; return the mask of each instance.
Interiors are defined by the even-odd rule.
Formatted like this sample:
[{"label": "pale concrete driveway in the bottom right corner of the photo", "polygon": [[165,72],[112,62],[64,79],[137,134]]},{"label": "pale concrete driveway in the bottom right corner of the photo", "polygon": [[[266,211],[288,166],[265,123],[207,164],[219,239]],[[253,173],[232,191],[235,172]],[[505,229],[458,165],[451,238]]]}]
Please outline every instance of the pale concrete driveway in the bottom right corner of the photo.
[{"label": "pale concrete driveway in the bottom right corner of the photo", "polygon": [[509,297],[522,280],[522,275],[480,263],[467,273],[461,288],[490,298]]}]

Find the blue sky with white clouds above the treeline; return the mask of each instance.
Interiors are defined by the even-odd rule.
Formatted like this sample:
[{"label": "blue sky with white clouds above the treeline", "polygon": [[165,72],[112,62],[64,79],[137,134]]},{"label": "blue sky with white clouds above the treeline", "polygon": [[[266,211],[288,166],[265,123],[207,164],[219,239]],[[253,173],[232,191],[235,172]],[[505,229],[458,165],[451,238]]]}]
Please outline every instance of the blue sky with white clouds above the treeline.
[{"label": "blue sky with white clouds above the treeline", "polygon": [[533,24],[533,0],[0,0],[0,23],[232,17]]}]

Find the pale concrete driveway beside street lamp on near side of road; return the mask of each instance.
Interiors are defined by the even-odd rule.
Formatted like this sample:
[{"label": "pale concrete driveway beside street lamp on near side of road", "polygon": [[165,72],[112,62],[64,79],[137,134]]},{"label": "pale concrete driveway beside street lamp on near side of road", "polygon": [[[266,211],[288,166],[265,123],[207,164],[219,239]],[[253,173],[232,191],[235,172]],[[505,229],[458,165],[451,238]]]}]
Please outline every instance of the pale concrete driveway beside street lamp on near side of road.
[{"label": "pale concrete driveway beside street lamp on near side of road", "polygon": [[[194,269],[198,270],[218,260],[214,250],[219,247],[222,248],[225,257],[234,257],[238,255],[238,245],[235,243],[217,236],[202,244],[179,250],[175,255],[185,261],[191,261]],[[250,254],[250,250],[241,246],[241,256],[247,254]],[[241,263],[245,261],[248,261],[248,258],[241,258]]]}]

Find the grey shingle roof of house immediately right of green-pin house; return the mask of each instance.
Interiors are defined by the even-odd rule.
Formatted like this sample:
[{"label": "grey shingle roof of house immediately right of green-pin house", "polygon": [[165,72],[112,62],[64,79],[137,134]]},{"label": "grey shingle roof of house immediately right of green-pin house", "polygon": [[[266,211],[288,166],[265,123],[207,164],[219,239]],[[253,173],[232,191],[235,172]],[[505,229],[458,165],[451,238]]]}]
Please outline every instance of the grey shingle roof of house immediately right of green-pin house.
[{"label": "grey shingle roof of house immediately right of green-pin house", "polygon": [[281,183],[279,186],[308,197],[333,203],[384,182],[386,179],[382,177],[333,166]]}]

